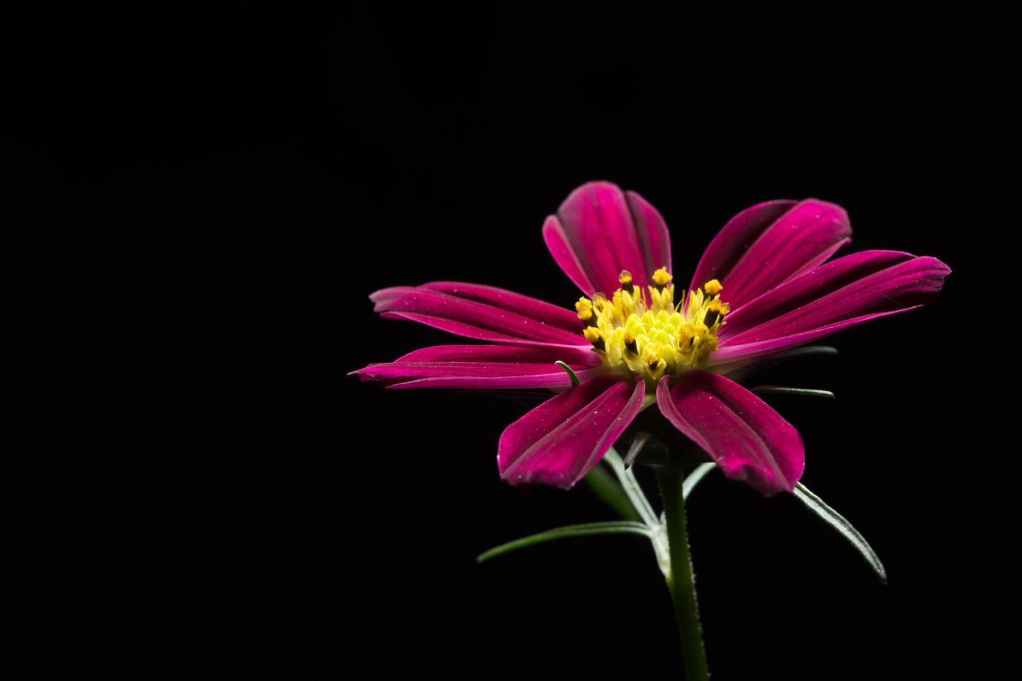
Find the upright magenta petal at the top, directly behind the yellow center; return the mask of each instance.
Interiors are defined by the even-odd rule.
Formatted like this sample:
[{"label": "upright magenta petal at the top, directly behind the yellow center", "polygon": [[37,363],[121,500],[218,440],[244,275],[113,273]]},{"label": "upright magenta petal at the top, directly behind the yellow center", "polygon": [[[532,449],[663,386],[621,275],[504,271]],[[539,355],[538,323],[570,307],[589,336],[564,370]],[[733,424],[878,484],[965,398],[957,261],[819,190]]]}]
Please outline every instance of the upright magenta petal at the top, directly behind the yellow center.
[{"label": "upright magenta petal at the top, directly behind the yellow center", "polygon": [[609,182],[575,189],[547,218],[543,238],[554,260],[586,295],[610,295],[622,270],[639,284],[670,269],[670,237],[663,218],[634,192]]}]

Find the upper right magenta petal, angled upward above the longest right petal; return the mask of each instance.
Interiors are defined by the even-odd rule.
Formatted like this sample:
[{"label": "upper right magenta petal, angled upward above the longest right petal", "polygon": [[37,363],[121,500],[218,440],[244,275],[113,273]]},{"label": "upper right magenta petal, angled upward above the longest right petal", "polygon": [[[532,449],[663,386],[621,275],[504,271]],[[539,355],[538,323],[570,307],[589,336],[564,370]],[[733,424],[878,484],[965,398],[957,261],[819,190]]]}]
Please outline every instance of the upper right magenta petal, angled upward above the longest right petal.
[{"label": "upper right magenta petal, angled upward above the longest right petal", "polygon": [[724,284],[723,300],[738,309],[779,284],[811,270],[847,244],[844,209],[806,199],[768,201],[733,217],[703,253],[692,288],[711,279]]}]

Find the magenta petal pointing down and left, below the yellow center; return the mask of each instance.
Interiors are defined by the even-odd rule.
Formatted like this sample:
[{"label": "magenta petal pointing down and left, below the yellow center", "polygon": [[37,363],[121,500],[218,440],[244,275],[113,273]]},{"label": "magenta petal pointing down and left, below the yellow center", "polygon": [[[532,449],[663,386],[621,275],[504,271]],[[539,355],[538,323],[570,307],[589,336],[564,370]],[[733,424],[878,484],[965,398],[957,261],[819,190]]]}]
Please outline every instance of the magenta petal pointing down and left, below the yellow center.
[{"label": "magenta petal pointing down and left, below the yellow center", "polygon": [[645,383],[597,377],[553,397],[501,434],[497,465],[512,485],[568,489],[595,467],[642,408]]}]

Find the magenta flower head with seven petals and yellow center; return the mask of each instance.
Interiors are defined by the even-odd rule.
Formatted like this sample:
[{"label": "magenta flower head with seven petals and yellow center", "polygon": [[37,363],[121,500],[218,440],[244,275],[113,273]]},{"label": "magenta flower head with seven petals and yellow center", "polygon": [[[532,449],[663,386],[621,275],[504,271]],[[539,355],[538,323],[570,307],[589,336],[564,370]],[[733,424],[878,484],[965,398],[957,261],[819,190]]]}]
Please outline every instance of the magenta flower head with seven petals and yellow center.
[{"label": "magenta flower head with seven petals and yellow center", "polygon": [[382,317],[490,344],[427,347],[353,374],[393,389],[562,391],[501,435],[498,466],[512,485],[571,487],[655,401],[728,477],[766,495],[791,491],[805,463],[798,432],[728,374],[918,307],[950,272],[897,251],[829,260],[850,235],[832,203],[754,205],[710,242],[676,301],[663,218],[638,194],[592,182],[543,226],[550,253],[585,295],[574,311],[478,284],[383,289],[370,296]]}]

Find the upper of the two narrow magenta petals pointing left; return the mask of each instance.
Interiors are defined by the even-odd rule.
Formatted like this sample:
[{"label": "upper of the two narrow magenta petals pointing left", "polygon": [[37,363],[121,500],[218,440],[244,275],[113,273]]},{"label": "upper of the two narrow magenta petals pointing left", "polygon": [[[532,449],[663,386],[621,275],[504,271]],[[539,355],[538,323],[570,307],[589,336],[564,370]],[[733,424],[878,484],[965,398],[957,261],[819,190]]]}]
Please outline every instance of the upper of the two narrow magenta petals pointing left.
[{"label": "upper of the two narrow magenta petals pointing left", "polygon": [[369,296],[376,311],[460,336],[499,343],[579,346],[582,323],[551,303],[491,286],[434,282],[382,289]]}]

